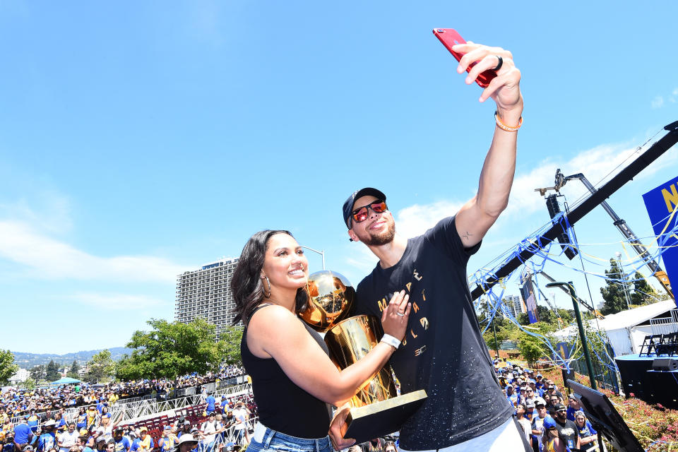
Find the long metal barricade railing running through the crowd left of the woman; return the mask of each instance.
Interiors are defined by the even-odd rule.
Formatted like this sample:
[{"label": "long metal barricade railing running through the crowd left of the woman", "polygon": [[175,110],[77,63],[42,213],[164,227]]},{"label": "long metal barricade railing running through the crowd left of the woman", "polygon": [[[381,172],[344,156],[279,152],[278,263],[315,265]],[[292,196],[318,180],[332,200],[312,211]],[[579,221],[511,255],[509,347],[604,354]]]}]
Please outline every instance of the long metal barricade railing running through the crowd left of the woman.
[{"label": "long metal barricade railing running through the crowd left of the woman", "polygon": [[[239,396],[241,394],[249,394],[251,391],[251,385],[247,383],[218,389],[215,391],[215,396]],[[112,422],[119,423],[138,417],[155,415],[160,412],[200,405],[201,403],[205,403],[204,396],[202,394],[195,394],[193,396],[169,398],[167,400],[139,400],[133,403],[126,403],[124,406],[118,406],[115,403],[109,412],[111,413]]]}]

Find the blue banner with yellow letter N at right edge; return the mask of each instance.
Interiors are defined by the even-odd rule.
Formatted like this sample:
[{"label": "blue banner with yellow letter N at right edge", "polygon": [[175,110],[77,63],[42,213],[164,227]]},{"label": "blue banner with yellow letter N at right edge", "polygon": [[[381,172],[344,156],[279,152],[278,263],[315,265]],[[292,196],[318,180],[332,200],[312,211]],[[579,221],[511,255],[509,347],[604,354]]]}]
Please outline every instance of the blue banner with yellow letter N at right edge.
[{"label": "blue banner with yellow letter N at right edge", "polygon": [[643,201],[645,201],[645,206],[648,209],[650,222],[652,222],[652,228],[658,237],[659,244],[670,246],[662,252],[662,261],[669,281],[678,281],[678,238],[675,234],[670,237],[666,234],[676,227],[676,220],[678,219],[678,212],[672,215],[674,209],[678,206],[678,177],[674,177],[674,179],[661,184],[656,189],[648,191],[643,195]]}]

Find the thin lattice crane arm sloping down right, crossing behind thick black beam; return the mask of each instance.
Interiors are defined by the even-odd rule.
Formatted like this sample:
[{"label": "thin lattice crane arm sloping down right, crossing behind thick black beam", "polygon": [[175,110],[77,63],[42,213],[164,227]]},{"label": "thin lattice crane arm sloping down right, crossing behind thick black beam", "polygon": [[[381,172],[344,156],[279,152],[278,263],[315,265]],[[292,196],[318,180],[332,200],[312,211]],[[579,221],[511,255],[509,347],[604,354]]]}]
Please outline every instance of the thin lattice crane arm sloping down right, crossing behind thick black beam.
[{"label": "thin lattice crane arm sloping down right, crossing behind thick black beam", "polygon": [[[558,193],[560,193],[560,189],[563,188],[563,186],[568,182],[573,179],[578,179],[588,191],[590,191],[591,194],[596,193],[596,189],[591,184],[588,182],[588,179],[580,172],[577,174],[572,174],[571,176],[564,176],[563,173],[560,172],[560,168],[556,170],[556,178],[554,182],[554,186],[549,186],[544,189],[535,189],[535,191],[539,191],[542,196],[545,196],[547,191],[549,190],[555,190]],[[555,196],[555,195],[552,195]],[[605,209],[605,212],[612,218],[612,224],[617,227],[619,232],[622,232],[622,235],[629,240],[629,244],[631,244],[631,247],[638,253],[638,256],[641,256],[643,261],[646,263],[646,266],[650,268],[652,271],[652,275],[657,278],[659,281],[660,285],[664,288],[666,293],[671,297],[674,298],[673,296],[673,291],[671,290],[671,283],[669,281],[669,277],[667,276],[666,272],[656,263],[653,261],[652,258],[650,258],[650,253],[648,252],[648,249],[646,249],[643,244],[641,244],[640,240],[638,240],[638,237],[634,232],[631,230],[629,225],[626,224],[626,221],[622,220],[622,218],[619,218],[619,215],[612,210],[612,208],[609,206],[609,204],[606,201],[602,201],[600,203],[600,206]]]}]

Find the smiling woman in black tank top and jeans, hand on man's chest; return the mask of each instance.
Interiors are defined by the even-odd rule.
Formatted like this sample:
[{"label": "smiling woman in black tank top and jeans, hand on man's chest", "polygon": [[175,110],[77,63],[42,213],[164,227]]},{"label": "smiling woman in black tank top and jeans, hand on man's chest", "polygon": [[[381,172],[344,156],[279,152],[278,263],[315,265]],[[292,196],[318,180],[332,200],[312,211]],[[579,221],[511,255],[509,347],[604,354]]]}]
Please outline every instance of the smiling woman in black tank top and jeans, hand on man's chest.
[{"label": "smiling woman in black tank top and jeans, hand on man's chest", "polygon": [[383,310],[381,342],[339,371],[320,335],[297,317],[308,305],[308,267],[290,232],[266,230],[245,244],[233,273],[234,321],[245,325],[242,362],[259,414],[248,452],[332,452],[326,403],[341,406],[354,396],[405,336],[411,306],[403,290]]}]

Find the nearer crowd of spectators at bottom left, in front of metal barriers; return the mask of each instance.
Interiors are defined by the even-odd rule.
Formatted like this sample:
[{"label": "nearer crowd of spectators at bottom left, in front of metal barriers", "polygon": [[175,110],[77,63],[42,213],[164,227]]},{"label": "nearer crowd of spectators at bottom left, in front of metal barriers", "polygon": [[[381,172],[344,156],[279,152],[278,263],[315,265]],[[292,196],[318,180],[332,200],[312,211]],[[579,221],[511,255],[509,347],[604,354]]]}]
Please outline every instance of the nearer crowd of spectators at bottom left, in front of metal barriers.
[{"label": "nearer crowd of spectators at bottom left, in front of metal barriers", "polygon": [[83,407],[73,419],[65,419],[61,408],[40,424],[25,416],[15,425],[6,413],[0,414],[0,452],[178,452],[184,434],[191,437],[184,442],[201,452],[233,451],[249,443],[251,419],[256,417],[251,395],[206,396],[199,419],[172,417],[159,424],[160,432],[150,431],[148,421],[114,424],[105,403]]}]

